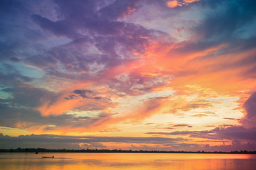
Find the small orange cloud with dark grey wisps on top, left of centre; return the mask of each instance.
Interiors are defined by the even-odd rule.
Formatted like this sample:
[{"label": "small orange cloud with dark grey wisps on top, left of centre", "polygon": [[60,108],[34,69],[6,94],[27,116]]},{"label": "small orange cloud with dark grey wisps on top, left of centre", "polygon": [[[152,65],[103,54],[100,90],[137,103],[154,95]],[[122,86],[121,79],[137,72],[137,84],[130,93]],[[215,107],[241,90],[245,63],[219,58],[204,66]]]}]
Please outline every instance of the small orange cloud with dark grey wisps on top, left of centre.
[{"label": "small orange cloud with dark grey wisps on top, left of centre", "polygon": [[[41,98],[38,111],[41,115],[62,115],[68,111],[102,111],[105,108],[117,106],[107,94],[97,91],[77,89],[78,86],[69,86],[66,90],[55,94],[53,98]],[[86,88],[86,87],[85,87]],[[99,96],[98,96],[99,95]],[[111,113],[110,113],[111,114]]]}]

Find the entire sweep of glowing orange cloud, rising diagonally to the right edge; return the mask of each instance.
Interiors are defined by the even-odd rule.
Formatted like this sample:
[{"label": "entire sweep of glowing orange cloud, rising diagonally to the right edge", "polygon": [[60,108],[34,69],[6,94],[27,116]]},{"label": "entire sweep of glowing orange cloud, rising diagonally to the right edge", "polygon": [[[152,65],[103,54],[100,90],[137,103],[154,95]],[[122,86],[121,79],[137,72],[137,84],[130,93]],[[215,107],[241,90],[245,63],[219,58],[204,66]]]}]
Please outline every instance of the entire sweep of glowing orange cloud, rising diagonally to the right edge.
[{"label": "entire sweep of glowing orange cloud, rising diagonally to the right edge", "polygon": [[[117,94],[111,91],[106,86],[106,82],[115,79],[122,74],[138,73],[142,77],[171,77],[169,83],[161,86],[152,87],[151,91],[164,91],[165,89],[172,89],[176,92],[176,97],[173,98],[155,98],[149,101],[144,101],[141,105],[134,106],[129,111],[112,115],[112,110],[119,107],[106,106],[105,113],[108,114],[106,118],[97,118],[95,116],[94,123],[86,125],[86,127],[75,128],[66,126],[63,129],[58,129],[63,132],[96,132],[122,123],[124,121],[136,122],[144,120],[152,115],[159,113],[175,113],[178,110],[186,108],[186,96],[193,94],[200,94],[201,98],[210,95],[230,95],[240,96],[238,101],[240,106],[246,100],[247,96],[242,96],[238,91],[244,91],[255,88],[254,79],[245,79],[243,73],[247,72],[250,67],[246,66],[235,67],[235,63],[242,62],[247,56],[255,54],[255,50],[230,53],[229,55],[218,55],[220,50],[225,50],[228,45],[217,45],[206,48],[205,50],[186,50],[190,42],[181,42],[174,44],[172,42],[162,43],[161,40],[153,41],[147,47],[144,54],[137,54],[141,58],[139,60],[131,60],[127,63],[112,67],[105,72],[103,79],[100,79],[97,84],[104,84],[105,88],[100,90],[100,93],[116,100],[120,98]],[[183,50],[181,50],[183,49]],[[228,67],[226,67],[228,66]],[[41,115],[60,115],[67,111],[72,111],[75,108],[86,106],[90,103],[84,98],[75,98],[73,100],[65,100],[65,94],[70,93],[75,89],[82,89],[85,86],[93,86],[93,83],[75,83],[68,87],[68,90],[63,92],[54,102],[46,101],[38,108]],[[194,88],[191,88],[193,86]],[[186,91],[186,92],[185,92]],[[178,95],[184,95],[180,98]],[[127,94],[129,96],[129,94]],[[244,99],[242,99],[244,98]],[[196,98],[195,100],[199,100]],[[193,103],[193,102],[192,102]],[[106,104],[106,103],[105,103]],[[242,107],[239,108],[242,111]]]}]

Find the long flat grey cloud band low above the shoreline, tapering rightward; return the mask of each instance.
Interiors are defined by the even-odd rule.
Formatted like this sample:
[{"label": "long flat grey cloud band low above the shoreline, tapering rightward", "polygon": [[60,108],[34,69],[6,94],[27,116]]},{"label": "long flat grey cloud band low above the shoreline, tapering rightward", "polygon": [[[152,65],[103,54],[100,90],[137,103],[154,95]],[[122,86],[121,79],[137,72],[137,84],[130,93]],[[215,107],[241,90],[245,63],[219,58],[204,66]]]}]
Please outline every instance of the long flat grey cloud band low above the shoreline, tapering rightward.
[{"label": "long flat grey cloud band low above the shoreline, tapering rightward", "polygon": [[[76,147],[78,144],[90,144],[93,142],[117,142],[117,143],[138,143],[138,144],[159,144],[170,145],[177,142],[186,141],[182,138],[169,137],[92,137],[92,136],[64,136],[64,135],[20,135],[10,137],[0,133],[1,146],[5,148],[13,147],[41,147],[46,144],[53,144],[55,148]],[[58,147],[56,147],[58,144]],[[68,144],[68,145],[67,145]],[[75,145],[74,145],[75,144]],[[48,145],[49,147],[50,145]]]}]

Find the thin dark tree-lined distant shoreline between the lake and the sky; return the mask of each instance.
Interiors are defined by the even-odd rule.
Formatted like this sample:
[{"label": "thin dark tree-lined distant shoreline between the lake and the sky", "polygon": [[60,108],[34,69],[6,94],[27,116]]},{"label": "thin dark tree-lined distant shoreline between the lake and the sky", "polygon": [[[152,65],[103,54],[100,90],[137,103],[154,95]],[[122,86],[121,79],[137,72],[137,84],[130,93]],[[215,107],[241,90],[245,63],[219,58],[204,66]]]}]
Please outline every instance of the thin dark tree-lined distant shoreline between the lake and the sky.
[{"label": "thin dark tree-lined distant shoreline between the lake and the sky", "polygon": [[161,150],[122,150],[122,149],[45,149],[45,148],[17,148],[0,149],[0,154],[46,154],[46,153],[183,153],[183,154],[256,154],[256,151],[231,151],[231,152],[187,152],[187,151],[161,151]]}]

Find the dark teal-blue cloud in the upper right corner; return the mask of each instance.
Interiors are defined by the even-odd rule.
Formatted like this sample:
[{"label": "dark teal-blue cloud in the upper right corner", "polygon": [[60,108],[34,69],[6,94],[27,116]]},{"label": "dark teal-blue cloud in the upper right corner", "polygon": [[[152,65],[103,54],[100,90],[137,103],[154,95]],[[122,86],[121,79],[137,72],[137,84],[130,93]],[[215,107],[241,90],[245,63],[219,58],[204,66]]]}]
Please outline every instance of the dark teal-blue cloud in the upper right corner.
[{"label": "dark teal-blue cloud in the upper right corner", "polygon": [[[208,40],[231,40],[238,35],[237,30],[255,19],[255,2],[252,1],[203,1],[206,8],[218,11],[206,14],[203,23],[195,28],[198,35]],[[224,8],[223,8],[224,7]],[[227,24],[228,23],[228,24]]]}]

